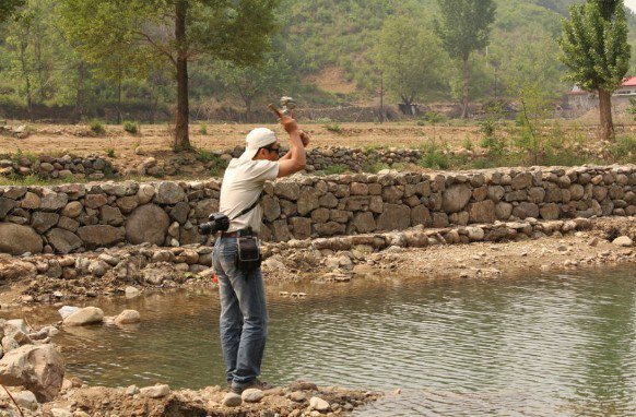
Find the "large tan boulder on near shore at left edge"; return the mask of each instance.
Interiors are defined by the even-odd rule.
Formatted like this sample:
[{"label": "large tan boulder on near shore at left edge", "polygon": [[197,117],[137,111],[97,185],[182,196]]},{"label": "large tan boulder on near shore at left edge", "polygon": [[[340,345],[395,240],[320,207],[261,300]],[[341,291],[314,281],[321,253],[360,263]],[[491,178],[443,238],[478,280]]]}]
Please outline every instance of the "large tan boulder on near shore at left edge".
[{"label": "large tan boulder on near shore at left edge", "polygon": [[0,383],[24,386],[39,402],[55,398],[63,378],[64,362],[54,345],[25,345],[0,360]]}]

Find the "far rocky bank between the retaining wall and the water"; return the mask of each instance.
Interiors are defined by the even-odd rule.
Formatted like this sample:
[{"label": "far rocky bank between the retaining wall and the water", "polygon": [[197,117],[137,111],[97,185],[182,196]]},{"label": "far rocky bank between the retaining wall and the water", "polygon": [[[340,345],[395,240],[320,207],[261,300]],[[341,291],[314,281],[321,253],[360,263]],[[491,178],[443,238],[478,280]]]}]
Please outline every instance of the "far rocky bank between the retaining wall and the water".
[{"label": "far rocky bank between the retaining wall and the water", "polygon": [[[502,273],[519,265],[539,270],[634,262],[636,217],[482,224],[263,243],[267,283],[313,279],[349,282],[390,276],[479,275],[494,263]],[[467,245],[468,243],[468,245]],[[486,262],[479,253],[492,254]],[[539,252],[537,248],[545,248]],[[209,246],[164,248],[142,243],[66,255],[0,258],[0,309],[68,303],[98,296],[214,286]],[[475,254],[478,253],[478,254]],[[522,262],[510,263],[508,258]],[[426,261],[424,261],[426,260]],[[461,269],[467,261],[470,266]],[[425,263],[425,267],[420,267]],[[493,266],[494,267],[494,266]],[[470,270],[470,269],[475,269]]]}]

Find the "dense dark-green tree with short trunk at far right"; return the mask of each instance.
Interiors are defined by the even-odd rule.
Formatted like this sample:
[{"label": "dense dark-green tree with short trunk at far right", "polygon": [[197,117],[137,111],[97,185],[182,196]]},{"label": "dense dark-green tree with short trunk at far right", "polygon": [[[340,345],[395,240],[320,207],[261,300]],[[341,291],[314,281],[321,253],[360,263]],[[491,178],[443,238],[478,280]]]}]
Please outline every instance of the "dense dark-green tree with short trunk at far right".
[{"label": "dense dark-green tree with short trunk at far right", "polygon": [[631,46],[623,0],[587,0],[573,4],[560,39],[566,80],[599,95],[600,138],[614,136],[612,93],[629,69]]}]

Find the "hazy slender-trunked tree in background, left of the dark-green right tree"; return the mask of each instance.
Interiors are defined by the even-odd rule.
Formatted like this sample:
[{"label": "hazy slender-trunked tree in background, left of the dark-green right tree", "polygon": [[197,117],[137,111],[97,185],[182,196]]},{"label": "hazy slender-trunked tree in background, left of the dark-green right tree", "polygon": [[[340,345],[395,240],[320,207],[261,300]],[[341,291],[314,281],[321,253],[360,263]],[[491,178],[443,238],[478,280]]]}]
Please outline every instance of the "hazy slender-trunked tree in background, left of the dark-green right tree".
[{"label": "hazy slender-trunked tree in background, left of the dark-green right tree", "polygon": [[495,20],[493,0],[437,0],[439,15],[435,26],[444,49],[462,62],[463,86],[461,117],[468,117],[470,55],[488,45],[491,24]]}]

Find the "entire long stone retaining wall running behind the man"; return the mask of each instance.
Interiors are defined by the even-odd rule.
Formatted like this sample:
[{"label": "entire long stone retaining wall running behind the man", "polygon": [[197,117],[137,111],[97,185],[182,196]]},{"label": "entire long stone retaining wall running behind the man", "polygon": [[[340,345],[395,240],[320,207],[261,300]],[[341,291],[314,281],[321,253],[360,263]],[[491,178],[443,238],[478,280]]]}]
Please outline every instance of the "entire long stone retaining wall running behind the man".
[{"label": "entire long stone retaining wall running behind the man", "polygon": [[[0,252],[201,243],[219,179],[0,188]],[[636,215],[636,166],[302,177],[266,187],[264,240]]]}]

